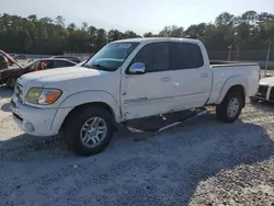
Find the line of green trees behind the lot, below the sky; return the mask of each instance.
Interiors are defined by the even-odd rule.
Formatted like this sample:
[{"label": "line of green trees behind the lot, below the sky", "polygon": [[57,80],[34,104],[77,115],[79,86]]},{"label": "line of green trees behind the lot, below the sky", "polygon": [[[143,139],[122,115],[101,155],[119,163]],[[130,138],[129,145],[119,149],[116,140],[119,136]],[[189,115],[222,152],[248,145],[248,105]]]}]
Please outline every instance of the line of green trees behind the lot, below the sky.
[{"label": "line of green trees behind the lot, below the sky", "polygon": [[[241,49],[265,49],[274,39],[274,14],[247,11],[239,16],[220,13],[214,23],[201,23],[186,30],[175,25],[164,26],[159,34],[147,32],[144,37],[195,37],[204,42],[209,50],[228,50],[238,45]],[[38,19],[0,15],[0,48],[9,53],[61,54],[64,52],[95,53],[106,43],[141,37],[133,31],[121,32],[96,28],[83,22],[66,26],[66,20],[58,15]]]}]

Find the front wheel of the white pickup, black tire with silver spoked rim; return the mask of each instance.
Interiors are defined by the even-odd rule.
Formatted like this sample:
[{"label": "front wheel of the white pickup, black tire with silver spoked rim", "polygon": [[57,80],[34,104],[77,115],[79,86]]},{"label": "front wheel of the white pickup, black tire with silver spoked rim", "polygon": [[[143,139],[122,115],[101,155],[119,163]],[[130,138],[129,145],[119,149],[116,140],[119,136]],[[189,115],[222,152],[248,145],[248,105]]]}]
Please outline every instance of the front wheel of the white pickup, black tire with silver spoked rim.
[{"label": "front wheel of the white pickup, black tire with silver spoked rim", "polygon": [[[98,141],[99,135],[95,135],[96,138],[91,138],[90,140],[87,140],[87,144],[90,144],[93,146],[89,147],[85,141],[87,138],[84,138],[87,133],[99,133],[99,129],[95,129],[93,131],[84,131],[83,128],[90,127],[93,124],[93,121],[95,119],[102,119],[102,122],[99,123],[99,127],[103,127],[102,125],[105,124],[106,126],[106,133],[105,136],[101,141],[94,145],[94,140]],[[103,151],[107,145],[110,144],[112,136],[113,136],[113,130],[114,130],[114,122],[113,122],[113,115],[110,114],[109,111],[98,107],[98,106],[92,106],[92,107],[84,107],[77,110],[68,119],[68,122],[65,125],[65,142],[68,146],[70,150],[72,150],[75,153],[79,156],[91,156],[91,154],[96,154]],[[85,126],[84,125],[89,125]],[[82,130],[83,129],[83,130]],[[90,128],[94,129],[94,128]],[[88,138],[89,139],[89,138]]]}]

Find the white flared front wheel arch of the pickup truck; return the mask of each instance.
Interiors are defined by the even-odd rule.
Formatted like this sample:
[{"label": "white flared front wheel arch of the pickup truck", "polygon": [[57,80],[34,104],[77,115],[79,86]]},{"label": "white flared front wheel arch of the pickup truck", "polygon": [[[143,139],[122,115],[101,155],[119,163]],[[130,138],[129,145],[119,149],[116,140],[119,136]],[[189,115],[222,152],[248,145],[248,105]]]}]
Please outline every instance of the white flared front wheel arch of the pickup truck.
[{"label": "white flared front wheel arch of the pickup truck", "polygon": [[73,93],[69,96],[67,96],[59,105],[59,108],[67,108],[67,107],[76,107],[81,104],[87,104],[87,103],[105,103],[107,104],[114,115],[116,122],[121,122],[121,112],[119,112],[119,106],[118,102],[115,100],[115,98],[105,91],[82,91],[82,92],[77,92]]}]

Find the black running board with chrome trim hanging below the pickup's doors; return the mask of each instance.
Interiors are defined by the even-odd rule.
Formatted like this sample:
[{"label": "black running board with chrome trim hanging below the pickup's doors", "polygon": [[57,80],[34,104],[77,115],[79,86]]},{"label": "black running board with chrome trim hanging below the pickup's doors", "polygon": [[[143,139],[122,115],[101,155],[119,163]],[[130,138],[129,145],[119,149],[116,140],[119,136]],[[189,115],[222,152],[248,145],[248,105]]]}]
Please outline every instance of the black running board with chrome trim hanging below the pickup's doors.
[{"label": "black running board with chrome trim hanging below the pickup's doors", "polygon": [[125,126],[132,133],[158,134],[192,118],[206,115],[208,111],[205,107],[201,107],[191,111],[182,111],[165,115],[134,119],[126,123]]}]

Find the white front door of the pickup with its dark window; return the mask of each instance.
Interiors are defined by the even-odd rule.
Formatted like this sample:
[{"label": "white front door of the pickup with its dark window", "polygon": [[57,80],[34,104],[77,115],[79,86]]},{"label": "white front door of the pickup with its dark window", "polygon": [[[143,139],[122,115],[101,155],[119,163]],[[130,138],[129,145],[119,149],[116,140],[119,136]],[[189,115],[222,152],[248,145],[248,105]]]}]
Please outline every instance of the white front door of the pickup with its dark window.
[{"label": "white front door of the pickup with its dark window", "polygon": [[[126,119],[167,113],[172,106],[170,96],[169,43],[145,45],[130,65],[146,65],[144,75],[122,75],[121,105]],[[129,66],[130,66],[129,65]]]}]

